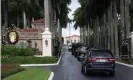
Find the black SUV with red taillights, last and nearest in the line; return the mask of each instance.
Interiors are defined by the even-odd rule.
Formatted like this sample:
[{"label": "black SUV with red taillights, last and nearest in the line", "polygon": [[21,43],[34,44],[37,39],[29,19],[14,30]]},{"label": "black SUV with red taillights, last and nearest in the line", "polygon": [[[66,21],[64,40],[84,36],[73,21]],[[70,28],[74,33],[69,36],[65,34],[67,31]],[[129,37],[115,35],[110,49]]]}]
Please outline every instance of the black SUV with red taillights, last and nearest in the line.
[{"label": "black SUV with red taillights, last and nearest in the line", "polygon": [[81,72],[86,75],[91,72],[109,72],[110,76],[114,76],[115,59],[112,52],[105,49],[88,50],[82,62]]}]

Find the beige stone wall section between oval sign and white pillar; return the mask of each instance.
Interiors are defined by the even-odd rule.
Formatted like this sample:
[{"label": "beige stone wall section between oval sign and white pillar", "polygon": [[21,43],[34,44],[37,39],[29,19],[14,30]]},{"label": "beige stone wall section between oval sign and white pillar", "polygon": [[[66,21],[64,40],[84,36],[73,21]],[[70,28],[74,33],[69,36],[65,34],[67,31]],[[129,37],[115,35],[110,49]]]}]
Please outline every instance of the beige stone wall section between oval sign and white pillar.
[{"label": "beige stone wall section between oval sign and white pillar", "polygon": [[[27,28],[22,29],[18,32],[19,34],[19,41],[17,43],[18,46],[23,47],[32,47],[39,49],[39,51],[42,51],[42,37],[41,37],[41,31],[40,29],[35,28]],[[29,45],[28,41],[31,42]]]}]

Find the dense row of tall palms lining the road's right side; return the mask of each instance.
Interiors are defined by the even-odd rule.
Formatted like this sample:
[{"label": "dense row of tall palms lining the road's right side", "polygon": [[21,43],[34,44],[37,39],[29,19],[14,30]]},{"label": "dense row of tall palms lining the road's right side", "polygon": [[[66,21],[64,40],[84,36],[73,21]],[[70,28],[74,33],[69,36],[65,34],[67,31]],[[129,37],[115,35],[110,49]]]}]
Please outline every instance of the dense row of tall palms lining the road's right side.
[{"label": "dense row of tall palms lining the road's right side", "polygon": [[[120,58],[122,46],[126,43],[127,47],[130,45],[129,41],[125,43],[124,40],[129,40],[130,31],[133,31],[133,1],[78,1],[81,7],[76,9],[73,15],[74,27],[80,27],[81,41],[92,47],[108,48],[116,58]],[[131,48],[128,48],[131,51]]]}]

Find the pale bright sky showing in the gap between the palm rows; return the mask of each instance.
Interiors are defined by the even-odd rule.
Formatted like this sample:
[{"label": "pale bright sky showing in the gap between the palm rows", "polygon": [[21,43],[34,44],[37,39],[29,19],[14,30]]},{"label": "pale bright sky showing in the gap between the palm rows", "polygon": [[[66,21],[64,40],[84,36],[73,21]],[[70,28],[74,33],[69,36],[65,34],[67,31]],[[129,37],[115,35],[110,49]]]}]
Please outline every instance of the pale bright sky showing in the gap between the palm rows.
[{"label": "pale bright sky showing in the gap between the palm rows", "polygon": [[[72,0],[71,4],[68,5],[68,7],[71,9],[71,12],[69,12],[68,17],[70,19],[73,19],[73,13],[74,11],[80,7],[80,4],[78,3],[78,0]],[[74,29],[73,23],[70,24],[70,35],[80,35],[79,28],[77,30]],[[67,28],[62,29],[62,36],[66,37],[69,36],[69,24],[67,25]]]}]

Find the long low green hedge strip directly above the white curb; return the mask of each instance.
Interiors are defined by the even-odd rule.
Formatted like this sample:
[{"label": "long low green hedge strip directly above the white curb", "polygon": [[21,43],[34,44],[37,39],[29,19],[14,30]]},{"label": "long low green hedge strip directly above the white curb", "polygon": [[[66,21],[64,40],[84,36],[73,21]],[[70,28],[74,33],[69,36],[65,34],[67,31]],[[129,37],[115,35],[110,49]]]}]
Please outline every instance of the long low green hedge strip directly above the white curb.
[{"label": "long low green hedge strip directly above the white curb", "polygon": [[14,64],[49,64],[57,62],[57,58],[55,57],[9,56],[1,58],[2,63]]}]

